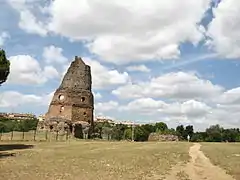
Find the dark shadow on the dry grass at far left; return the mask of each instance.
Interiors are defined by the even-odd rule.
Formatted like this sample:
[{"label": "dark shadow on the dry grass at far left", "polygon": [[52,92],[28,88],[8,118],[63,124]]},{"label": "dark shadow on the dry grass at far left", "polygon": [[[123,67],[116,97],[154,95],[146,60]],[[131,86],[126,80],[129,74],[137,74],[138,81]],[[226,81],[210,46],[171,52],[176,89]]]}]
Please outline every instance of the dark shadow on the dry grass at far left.
[{"label": "dark shadow on the dry grass at far left", "polygon": [[15,156],[15,153],[1,152],[1,151],[11,151],[16,149],[30,149],[33,147],[34,147],[33,145],[27,145],[27,144],[0,144],[0,159],[5,157]]}]

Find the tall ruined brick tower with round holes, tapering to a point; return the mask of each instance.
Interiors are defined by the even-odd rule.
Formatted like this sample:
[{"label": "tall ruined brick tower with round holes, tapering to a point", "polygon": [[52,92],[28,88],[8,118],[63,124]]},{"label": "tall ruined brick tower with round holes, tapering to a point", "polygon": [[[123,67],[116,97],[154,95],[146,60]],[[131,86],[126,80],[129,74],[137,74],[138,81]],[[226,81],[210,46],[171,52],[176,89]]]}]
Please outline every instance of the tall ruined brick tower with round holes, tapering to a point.
[{"label": "tall ruined brick tower with round holes, tapering to a point", "polygon": [[76,56],[54,93],[46,122],[48,126],[64,122],[93,127],[93,102],[91,68]]}]

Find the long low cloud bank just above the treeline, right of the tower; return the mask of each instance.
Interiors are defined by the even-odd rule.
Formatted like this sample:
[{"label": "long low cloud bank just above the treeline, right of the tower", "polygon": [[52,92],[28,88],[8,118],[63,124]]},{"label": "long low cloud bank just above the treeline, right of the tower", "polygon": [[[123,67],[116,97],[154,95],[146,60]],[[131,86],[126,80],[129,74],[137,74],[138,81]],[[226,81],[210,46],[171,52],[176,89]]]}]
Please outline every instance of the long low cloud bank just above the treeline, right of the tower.
[{"label": "long low cloud bank just above the treeline, right of the tower", "polygon": [[151,119],[152,122],[164,121],[173,127],[192,124],[197,130],[203,130],[213,124],[236,127],[240,123],[240,106],[230,109],[229,106],[210,106],[193,99],[167,103],[152,98],[139,98],[121,105],[119,110],[144,115],[145,122],[147,119]]}]

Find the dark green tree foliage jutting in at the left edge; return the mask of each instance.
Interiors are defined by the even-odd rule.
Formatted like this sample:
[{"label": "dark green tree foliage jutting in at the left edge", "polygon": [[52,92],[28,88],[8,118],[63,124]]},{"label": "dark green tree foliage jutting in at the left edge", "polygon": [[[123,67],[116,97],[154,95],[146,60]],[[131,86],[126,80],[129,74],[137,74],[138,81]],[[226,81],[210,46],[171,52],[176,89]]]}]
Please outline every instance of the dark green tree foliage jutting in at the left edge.
[{"label": "dark green tree foliage jutting in at the left edge", "polygon": [[0,49],[0,86],[6,82],[10,73],[10,61],[7,60],[5,51]]}]

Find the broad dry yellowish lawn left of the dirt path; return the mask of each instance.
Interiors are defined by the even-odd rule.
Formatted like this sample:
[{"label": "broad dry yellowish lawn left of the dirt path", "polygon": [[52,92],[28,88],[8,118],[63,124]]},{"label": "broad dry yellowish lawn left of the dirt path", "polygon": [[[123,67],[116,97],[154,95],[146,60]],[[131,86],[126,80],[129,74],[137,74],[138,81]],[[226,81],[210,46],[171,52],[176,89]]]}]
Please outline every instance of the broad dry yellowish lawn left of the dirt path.
[{"label": "broad dry yellowish lawn left of the dirt path", "polygon": [[189,160],[190,146],[183,142],[39,142],[31,149],[8,151],[16,156],[2,156],[0,179],[160,179],[171,166]]}]

